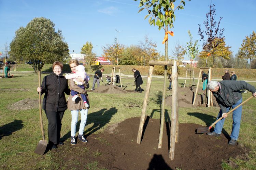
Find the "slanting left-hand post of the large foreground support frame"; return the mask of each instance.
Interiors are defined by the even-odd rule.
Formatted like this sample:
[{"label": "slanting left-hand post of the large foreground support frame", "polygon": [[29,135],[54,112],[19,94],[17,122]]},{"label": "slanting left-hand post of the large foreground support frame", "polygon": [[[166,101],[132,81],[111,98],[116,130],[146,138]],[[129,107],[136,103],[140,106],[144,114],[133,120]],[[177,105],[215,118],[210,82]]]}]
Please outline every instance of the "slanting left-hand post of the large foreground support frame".
[{"label": "slanting left-hand post of the large foreground support frame", "polygon": [[149,68],[149,71],[148,71],[148,76],[147,76],[147,86],[146,86],[146,91],[145,91],[145,96],[144,96],[144,101],[143,101],[143,106],[142,106],[142,112],[141,112],[141,117],[140,117],[140,126],[139,126],[139,131],[138,131],[138,136],[137,136],[137,143],[138,144],[140,144],[140,142],[141,142],[141,135],[142,135],[144,121],[145,121],[148,95],[149,95],[149,92],[150,92],[150,86],[151,86],[153,71],[154,71],[154,65],[150,65],[150,68]]}]

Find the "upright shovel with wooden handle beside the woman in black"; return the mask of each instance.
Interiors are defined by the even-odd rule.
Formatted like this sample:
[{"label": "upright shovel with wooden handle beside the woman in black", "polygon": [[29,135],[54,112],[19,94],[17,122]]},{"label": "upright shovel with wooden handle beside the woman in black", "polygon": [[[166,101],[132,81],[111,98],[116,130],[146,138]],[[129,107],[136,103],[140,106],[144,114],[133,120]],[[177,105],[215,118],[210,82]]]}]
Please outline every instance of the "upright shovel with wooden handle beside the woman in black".
[{"label": "upright shovel with wooden handle beside the woman in black", "polygon": [[[41,87],[41,72],[40,71],[38,72],[38,83],[39,83],[39,87]],[[43,155],[46,150],[47,142],[45,141],[45,136],[44,136],[44,126],[43,126],[42,106],[41,106],[41,92],[39,92],[39,117],[40,117],[40,126],[41,126],[43,140],[39,141],[37,148],[35,149],[35,153]]]}]

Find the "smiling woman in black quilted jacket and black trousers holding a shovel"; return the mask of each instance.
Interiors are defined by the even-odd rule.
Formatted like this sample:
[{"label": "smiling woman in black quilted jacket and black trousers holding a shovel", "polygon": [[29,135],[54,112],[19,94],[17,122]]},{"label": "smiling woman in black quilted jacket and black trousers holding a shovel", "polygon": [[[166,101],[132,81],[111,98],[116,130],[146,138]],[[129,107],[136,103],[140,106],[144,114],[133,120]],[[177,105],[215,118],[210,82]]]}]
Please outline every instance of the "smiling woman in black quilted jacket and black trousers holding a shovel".
[{"label": "smiling woman in black quilted jacket and black trousers holding a shovel", "polygon": [[57,145],[63,145],[60,139],[61,120],[67,102],[65,94],[69,95],[68,80],[62,76],[63,64],[59,61],[53,63],[53,73],[44,77],[41,87],[37,88],[41,95],[44,94],[43,109],[48,119],[49,146],[56,149]]}]

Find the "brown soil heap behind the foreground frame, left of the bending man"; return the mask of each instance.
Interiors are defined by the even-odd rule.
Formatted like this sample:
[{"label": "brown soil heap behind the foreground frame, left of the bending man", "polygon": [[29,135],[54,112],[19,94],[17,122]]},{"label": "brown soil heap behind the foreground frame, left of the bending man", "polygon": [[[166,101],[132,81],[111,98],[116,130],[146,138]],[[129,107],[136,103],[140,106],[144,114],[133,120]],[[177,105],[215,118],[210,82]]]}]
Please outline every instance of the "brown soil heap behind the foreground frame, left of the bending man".
[{"label": "brown soil heap behind the foreground frame, left of the bending man", "polygon": [[[207,105],[207,101],[208,101],[208,96],[206,98],[206,105],[203,104],[204,100],[205,100],[205,95],[203,94],[204,90],[202,90],[201,88],[198,88],[197,93],[197,97],[196,97],[196,103],[195,106],[193,105],[193,99],[194,99],[194,94],[196,92],[196,87],[192,86],[192,87],[178,87],[178,91],[179,91],[179,107],[205,107]],[[212,97],[213,99],[213,106],[217,107],[218,103],[215,99],[215,97]],[[172,103],[172,96],[168,96],[166,97],[166,104],[168,106],[171,106]]]}]

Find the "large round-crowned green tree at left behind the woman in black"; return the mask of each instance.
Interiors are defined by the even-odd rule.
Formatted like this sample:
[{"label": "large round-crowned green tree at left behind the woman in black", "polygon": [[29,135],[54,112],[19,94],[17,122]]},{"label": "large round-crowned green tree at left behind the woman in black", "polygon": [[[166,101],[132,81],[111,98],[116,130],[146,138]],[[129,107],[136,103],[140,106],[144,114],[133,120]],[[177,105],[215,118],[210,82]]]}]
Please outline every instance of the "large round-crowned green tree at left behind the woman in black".
[{"label": "large round-crowned green tree at left behind the woman in black", "polygon": [[12,59],[32,62],[37,73],[45,63],[64,61],[69,49],[61,31],[55,32],[55,24],[46,18],[34,18],[26,27],[20,27],[10,44]]}]

